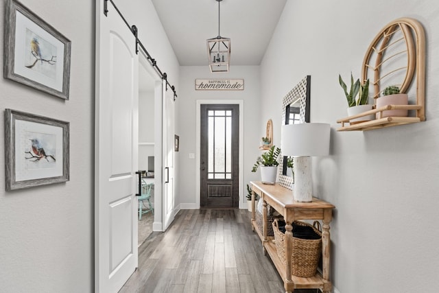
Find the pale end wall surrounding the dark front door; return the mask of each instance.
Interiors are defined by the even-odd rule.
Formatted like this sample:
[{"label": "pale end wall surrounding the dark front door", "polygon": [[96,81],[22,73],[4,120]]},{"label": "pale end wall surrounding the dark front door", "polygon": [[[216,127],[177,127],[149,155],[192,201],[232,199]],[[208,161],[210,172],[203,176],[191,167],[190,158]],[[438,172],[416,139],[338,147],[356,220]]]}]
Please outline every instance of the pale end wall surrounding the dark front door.
[{"label": "pale end wall surrounding the dark front door", "polygon": [[[244,78],[244,91],[195,91],[195,78]],[[257,180],[259,174],[251,173],[252,165],[261,153],[259,140],[265,136],[265,126],[259,128],[260,100],[259,67],[230,67],[229,73],[210,73],[209,67],[180,67],[180,96],[177,112],[180,133],[180,203],[182,207],[193,207],[195,194],[195,159],[189,159],[195,145],[195,104],[198,99],[242,99],[244,100],[244,184],[239,191],[240,201],[245,202],[246,184]],[[265,121],[265,124],[267,121]],[[244,200],[243,200],[244,197]]]}]

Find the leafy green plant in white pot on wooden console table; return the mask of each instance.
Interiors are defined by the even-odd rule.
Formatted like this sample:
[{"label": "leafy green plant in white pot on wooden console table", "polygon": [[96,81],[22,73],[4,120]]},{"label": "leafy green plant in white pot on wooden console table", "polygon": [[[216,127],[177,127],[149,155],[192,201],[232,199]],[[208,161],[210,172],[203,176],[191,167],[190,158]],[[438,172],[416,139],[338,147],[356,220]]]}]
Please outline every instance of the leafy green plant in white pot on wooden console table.
[{"label": "leafy green plant in white pot on wooden console table", "polygon": [[281,149],[273,145],[270,150],[258,156],[256,163],[252,167],[252,172],[257,172],[258,167],[261,166],[262,183],[276,183],[277,166],[279,165],[277,160],[280,153]]}]

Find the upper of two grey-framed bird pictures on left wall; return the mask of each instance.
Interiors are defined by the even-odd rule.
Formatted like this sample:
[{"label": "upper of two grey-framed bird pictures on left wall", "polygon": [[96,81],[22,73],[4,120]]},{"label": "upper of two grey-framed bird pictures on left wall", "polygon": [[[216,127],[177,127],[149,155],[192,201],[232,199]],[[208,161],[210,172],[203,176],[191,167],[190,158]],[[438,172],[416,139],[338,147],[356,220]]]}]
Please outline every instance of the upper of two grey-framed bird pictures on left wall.
[{"label": "upper of two grey-framed bird pictures on left wall", "polygon": [[15,0],[6,0],[4,76],[69,99],[71,42]]}]

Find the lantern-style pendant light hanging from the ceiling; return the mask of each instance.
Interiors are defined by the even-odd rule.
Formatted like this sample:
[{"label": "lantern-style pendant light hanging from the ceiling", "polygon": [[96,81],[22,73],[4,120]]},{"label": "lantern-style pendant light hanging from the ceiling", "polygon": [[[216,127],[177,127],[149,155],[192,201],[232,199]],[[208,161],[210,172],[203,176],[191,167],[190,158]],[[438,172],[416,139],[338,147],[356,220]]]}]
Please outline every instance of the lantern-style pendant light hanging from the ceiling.
[{"label": "lantern-style pendant light hanging from the ceiling", "polygon": [[211,72],[228,72],[230,67],[230,38],[223,38],[219,34],[219,2],[218,2],[218,36],[207,39],[207,55]]}]

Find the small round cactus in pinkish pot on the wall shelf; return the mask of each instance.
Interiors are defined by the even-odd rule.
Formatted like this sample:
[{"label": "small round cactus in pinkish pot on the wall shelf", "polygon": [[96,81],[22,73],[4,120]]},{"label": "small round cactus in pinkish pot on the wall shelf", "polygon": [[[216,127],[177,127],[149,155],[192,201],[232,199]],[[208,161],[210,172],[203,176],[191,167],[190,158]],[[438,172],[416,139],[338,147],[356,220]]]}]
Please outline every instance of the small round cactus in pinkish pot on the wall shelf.
[{"label": "small round cactus in pinkish pot on the wall shelf", "polygon": [[[406,93],[400,93],[399,86],[388,86],[383,91],[383,96],[378,97],[376,100],[377,108],[381,108],[386,105],[407,105],[409,97]],[[381,117],[407,117],[407,110],[385,110]],[[379,113],[377,113],[379,115]]]}]

